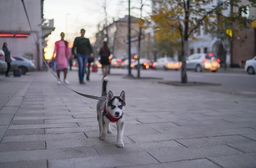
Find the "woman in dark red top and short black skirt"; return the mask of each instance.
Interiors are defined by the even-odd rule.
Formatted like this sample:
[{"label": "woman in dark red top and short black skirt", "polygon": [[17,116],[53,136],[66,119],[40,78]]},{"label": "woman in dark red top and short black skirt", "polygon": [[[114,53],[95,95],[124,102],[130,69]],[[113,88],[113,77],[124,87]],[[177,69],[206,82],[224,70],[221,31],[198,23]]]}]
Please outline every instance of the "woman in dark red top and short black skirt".
[{"label": "woman in dark red top and short black skirt", "polygon": [[107,74],[109,73],[109,56],[110,56],[110,51],[109,48],[107,47],[107,42],[104,41],[103,42],[103,46],[101,47],[100,51],[99,51],[99,55],[101,56],[101,65],[102,65],[102,74],[103,77],[106,77]]}]

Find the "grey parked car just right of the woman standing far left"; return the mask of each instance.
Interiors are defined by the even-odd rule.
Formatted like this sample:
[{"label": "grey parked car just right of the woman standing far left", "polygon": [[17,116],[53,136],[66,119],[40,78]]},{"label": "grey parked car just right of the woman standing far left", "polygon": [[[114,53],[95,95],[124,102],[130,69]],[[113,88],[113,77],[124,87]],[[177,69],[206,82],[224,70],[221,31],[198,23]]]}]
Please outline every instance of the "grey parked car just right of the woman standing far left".
[{"label": "grey parked car just right of the woman standing far left", "polygon": [[36,70],[35,64],[31,60],[20,61],[20,60],[16,60],[14,57],[11,56],[10,71],[13,72],[15,68],[19,68],[21,70],[21,74],[23,75],[25,75],[27,72]]}]

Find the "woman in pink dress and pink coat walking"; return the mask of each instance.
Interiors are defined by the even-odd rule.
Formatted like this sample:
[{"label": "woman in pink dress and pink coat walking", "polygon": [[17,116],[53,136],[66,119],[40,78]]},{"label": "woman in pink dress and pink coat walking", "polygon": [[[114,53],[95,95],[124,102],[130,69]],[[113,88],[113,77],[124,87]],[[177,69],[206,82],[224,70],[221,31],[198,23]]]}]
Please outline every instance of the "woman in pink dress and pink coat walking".
[{"label": "woman in pink dress and pink coat walking", "polygon": [[[67,77],[67,65],[69,62],[69,43],[64,40],[65,34],[61,33],[61,40],[55,42],[55,49],[53,52],[53,55],[56,54],[55,58],[53,57],[53,60],[57,62],[57,76],[60,79],[60,71],[64,69],[64,82],[66,84],[69,84],[69,81],[66,79]],[[58,84],[61,84],[60,81],[58,81]]]}]

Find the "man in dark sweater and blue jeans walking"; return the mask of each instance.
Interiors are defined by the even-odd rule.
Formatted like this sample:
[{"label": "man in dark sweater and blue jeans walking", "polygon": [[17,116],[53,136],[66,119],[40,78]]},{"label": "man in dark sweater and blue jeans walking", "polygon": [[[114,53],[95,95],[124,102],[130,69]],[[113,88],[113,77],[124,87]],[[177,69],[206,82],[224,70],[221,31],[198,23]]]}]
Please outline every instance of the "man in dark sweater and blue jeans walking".
[{"label": "man in dark sweater and blue jeans walking", "polygon": [[75,56],[75,48],[77,50],[77,61],[79,65],[78,76],[80,84],[85,84],[83,78],[85,76],[86,64],[88,57],[93,57],[93,49],[90,40],[85,38],[85,29],[81,29],[81,36],[76,37],[72,47],[72,57]]}]

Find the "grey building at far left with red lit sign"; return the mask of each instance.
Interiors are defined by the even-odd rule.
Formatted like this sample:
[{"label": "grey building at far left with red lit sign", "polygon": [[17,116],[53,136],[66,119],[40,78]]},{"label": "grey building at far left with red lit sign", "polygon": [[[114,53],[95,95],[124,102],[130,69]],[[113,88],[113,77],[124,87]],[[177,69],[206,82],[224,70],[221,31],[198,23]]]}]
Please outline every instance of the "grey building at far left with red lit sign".
[{"label": "grey building at far left with red lit sign", "polygon": [[7,42],[11,55],[19,55],[35,60],[38,70],[42,70],[45,38],[54,30],[53,20],[43,19],[43,0],[26,0],[25,5],[30,19],[37,49],[21,1],[1,0],[0,5],[0,45]]}]

